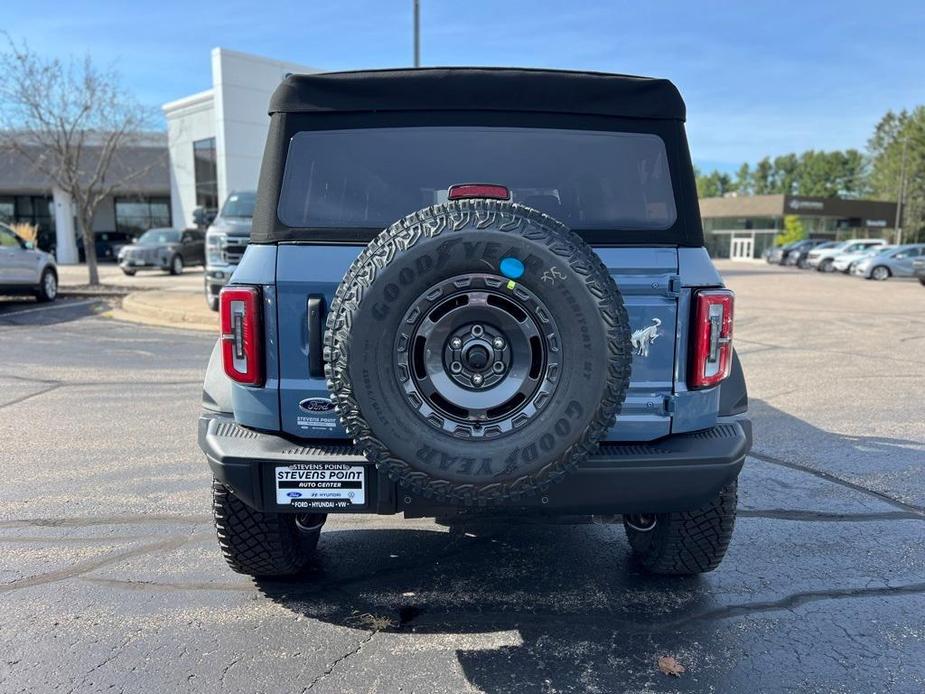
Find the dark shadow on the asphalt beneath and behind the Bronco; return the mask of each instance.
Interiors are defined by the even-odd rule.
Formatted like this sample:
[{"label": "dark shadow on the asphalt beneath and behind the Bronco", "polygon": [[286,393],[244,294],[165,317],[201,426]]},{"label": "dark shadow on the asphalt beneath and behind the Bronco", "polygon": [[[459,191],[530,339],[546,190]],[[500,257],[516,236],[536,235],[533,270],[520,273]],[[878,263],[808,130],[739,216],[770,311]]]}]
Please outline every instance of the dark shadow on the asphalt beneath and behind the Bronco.
[{"label": "dark shadow on the asphalt beneath and behind the Bronco", "polygon": [[[660,655],[729,648],[698,618],[714,607],[709,579],[643,574],[616,525],[332,530],[306,576],[256,583],[311,619],[457,635],[458,662],[481,691],[675,690]],[[494,647],[465,647],[465,635],[487,633]]]}]

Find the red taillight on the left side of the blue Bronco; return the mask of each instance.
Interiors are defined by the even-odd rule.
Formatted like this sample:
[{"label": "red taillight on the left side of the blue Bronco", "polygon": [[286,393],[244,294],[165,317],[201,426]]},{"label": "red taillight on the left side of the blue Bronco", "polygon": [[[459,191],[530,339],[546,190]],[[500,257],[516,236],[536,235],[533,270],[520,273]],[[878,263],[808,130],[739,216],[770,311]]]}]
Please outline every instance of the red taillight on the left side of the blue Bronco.
[{"label": "red taillight on the left side of the blue Bronco", "polygon": [[257,287],[225,287],[219,295],[219,304],[225,373],[237,383],[263,385],[260,290]]}]

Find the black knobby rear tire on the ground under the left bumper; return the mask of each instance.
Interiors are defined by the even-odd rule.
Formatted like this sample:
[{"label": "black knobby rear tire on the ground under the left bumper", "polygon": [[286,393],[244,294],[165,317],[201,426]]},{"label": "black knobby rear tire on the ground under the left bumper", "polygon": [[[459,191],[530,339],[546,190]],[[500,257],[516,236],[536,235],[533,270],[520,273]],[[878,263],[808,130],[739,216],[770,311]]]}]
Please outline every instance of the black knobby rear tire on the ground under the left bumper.
[{"label": "black knobby rear tire on the ground under the left bumper", "polygon": [[228,566],[254,577],[291,576],[303,571],[311,561],[324,522],[321,516],[317,530],[302,530],[295,515],[255,511],[214,479],[212,516]]}]

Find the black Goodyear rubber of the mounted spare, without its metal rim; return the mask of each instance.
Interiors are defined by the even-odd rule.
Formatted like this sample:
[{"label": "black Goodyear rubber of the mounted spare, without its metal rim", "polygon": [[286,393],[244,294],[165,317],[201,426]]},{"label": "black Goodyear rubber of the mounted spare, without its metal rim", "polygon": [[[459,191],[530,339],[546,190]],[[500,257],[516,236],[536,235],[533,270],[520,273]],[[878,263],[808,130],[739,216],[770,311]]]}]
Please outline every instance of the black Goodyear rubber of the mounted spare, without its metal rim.
[{"label": "black Goodyear rubber of the mounted spare, without its metal rim", "polygon": [[[570,273],[568,281],[572,289],[556,290],[560,294],[554,300],[561,306],[562,292],[582,292],[584,303],[576,311],[585,313],[561,310],[564,315],[556,315],[553,308],[550,313],[564,330],[571,331],[571,336],[563,339],[581,340],[579,324],[582,330],[589,332],[583,335],[581,349],[569,347],[575,354],[580,353],[581,360],[565,364],[562,372],[568,375],[561,377],[562,383],[558,384],[552,402],[535,416],[536,422],[531,420],[490,441],[473,444],[470,440],[432,429],[419,417],[404,393],[399,392],[394,372],[385,373],[392,367],[386,363],[385,348],[376,344],[391,347],[398,333],[399,319],[415,296],[429,291],[427,287],[433,286],[432,281],[455,277],[457,270],[485,272],[480,258],[470,263],[471,269],[459,270],[465,266],[461,257],[463,244],[474,245],[480,240],[491,241],[502,250],[514,246],[520,249],[518,252],[531,249],[542,256],[544,262],[552,262]],[[409,280],[409,286],[402,290],[407,296],[403,294],[395,299],[390,306],[390,317],[381,318],[380,323],[375,324],[370,318],[372,309],[369,307],[375,308],[377,303],[385,301],[383,297],[387,292],[383,291],[383,284],[387,289],[389,282],[398,281],[395,276],[399,268],[410,274],[415,267],[412,259],[416,263],[422,257],[438,253],[444,246],[451,249],[445,251],[451,256],[446,265],[441,267],[438,263],[437,269],[422,270],[419,277]],[[390,269],[391,274],[388,274]],[[377,283],[377,278],[384,279]],[[527,281],[533,282],[536,291],[545,290],[538,276],[527,280],[525,275],[518,280],[524,287],[528,286]],[[593,321],[589,317],[593,317]],[[390,321],[394,322],[394,327]],[[359,326],[356,333],[353,332],[355,326]],[[328,313],[324,344],[325,374],[335,409],[347,433],[366,457],[415,494],[464,506],[516,502],[536,495],[584,461],[613,424],[623,404],[632,360],[629,320],[623,299],[597,254],[555,219],[529,207],[496,200],[462,200],[434,205],[409,215],[379,234],[353,263],[338,287]],[[589,354],[592,345],[593,354]],[[368,360],[364,362],[354,356],[354,362],[363,365],[356,367],[356,373],[351,373],[351,350]],[[373,353],[375,359],[369,356]],[[394,354],[394,350],[391,353]],[[575,375],[580,368],[586,373]],[[360,373],[363,375],[358,375]],[[562,423],[559,411],[576,402],[561,394],[574,393],[576,384],[583,378],[587,379],[582,392],[585,401],[573,409],[573,414],[579,410],[580,414],[566,422],[568,426],[559,426]],[[394,385],[390,385],[388,379]],[[375,384],[370,386],[368,381]],[[566,382],[567,387],[564,387]],[[393,389],[394,394],[389,389]],[[381,395],[379,401],[372,400],[369,394],[373,391]],[[364,412],[364,406],[371,412]],[[370,425],[370,418],[379,423],[379,431]],[[381,433],[382,422],[386,420],[391,426],[389,436]],[[545,424],[540,425],[541,421]],[[399,430],[404,432],[403,436],[397,435]],[[533,436],[530,441],[526,441],[528,432]],[[542,441],[549,445],[536,455]],[[528,456],[521,454],[527,448],[533,449],[533,457],[525,462],[523,459]],[[475,468],[484,461],[489,463],[487,471],[482,467],[477,474]],[[442,467],[444,463],[448,467]],[[445,472],[448,469],[449,472]]]}]

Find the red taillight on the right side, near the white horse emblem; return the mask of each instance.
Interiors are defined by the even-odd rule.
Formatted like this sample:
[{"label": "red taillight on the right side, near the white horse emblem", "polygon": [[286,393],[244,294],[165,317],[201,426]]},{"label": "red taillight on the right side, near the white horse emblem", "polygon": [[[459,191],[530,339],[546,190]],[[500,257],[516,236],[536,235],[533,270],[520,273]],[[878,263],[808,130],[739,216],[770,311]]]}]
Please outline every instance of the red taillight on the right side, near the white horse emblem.
[{"label": "red taillight on the right side, near the white horse emblem", "polygon": [[694,294],[690,374],[691,388],[714,386],[732,369],[732,306],[728,289],[701,290]]}]

